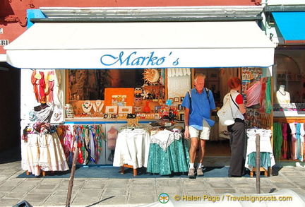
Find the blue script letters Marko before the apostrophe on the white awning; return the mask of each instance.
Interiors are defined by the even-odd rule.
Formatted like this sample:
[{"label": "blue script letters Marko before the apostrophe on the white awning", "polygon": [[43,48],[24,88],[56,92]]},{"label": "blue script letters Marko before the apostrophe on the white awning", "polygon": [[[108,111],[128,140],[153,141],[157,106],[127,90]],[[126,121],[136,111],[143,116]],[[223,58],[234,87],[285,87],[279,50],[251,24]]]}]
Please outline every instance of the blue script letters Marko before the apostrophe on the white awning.
[{"label": "blue script letters Marko before the apostrophe on the white awning", "polygon": [[165,62],[166,57],[156,57],[155,52],[150,52],[149,57],[134,57],[137,52],[132,52],[124,58],[124,52],[120,52],[119,57],[111,54],[105,54],[100,58],[104,66],[112,66],[119,63],[121,66],[160,66]]}]

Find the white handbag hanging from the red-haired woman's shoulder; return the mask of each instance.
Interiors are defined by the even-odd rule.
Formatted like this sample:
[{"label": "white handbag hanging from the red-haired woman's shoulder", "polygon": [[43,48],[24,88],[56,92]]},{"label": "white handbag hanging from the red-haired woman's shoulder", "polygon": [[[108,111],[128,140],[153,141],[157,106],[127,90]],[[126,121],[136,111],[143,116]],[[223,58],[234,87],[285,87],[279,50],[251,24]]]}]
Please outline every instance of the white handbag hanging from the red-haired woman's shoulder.
[{"label": "white handbag hanging from the red-haired woman's shoulder", "polygon": [[[227,95],[224,97],[225,105],[223,105],[217,112],[217,116],[220,119],[220,124],[223,126],[229,126],[235,123],[229,98],[230,93],[227,93]],[[226,99],[227,101],[225,101]]]}]

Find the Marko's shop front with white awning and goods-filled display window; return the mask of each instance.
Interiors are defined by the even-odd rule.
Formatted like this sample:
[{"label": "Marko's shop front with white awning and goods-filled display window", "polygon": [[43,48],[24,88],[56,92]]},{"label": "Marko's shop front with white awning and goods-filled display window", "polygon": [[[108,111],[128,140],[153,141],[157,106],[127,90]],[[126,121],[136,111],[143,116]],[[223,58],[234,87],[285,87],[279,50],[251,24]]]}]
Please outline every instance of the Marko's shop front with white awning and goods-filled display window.
[{"label": "Marko's shop front with white awning and goods-filled display window", "polygon": [[[227,93],[224,83],[228,78],[241,76],[246,84],[250,81],[250,72],[258,79],[273,76],[275,44],[258,25],[263,6],[230,8],[234,10],[232,16],[207,18],[215,9],[224,15],[227,8],[137,8],[132,18],[129,13],[134,13],[134,8],[31,11],[30,16],[38,17],[31,19],[34,24],[6,47],[8,63],[24,69],[21,71],[21,128],[25,129],[31,122],[29,114],[33,108],[43,107],[40,103],[45,97],[47,102],[52,102],[51,123],[63,126],[64,136],[76,137],[78,126],[82,130],[85,130],[83,126],[95,130],[102,127],[99,129],[106,136],[100,134],[102,153],[97,162],[88,160],[85,164],[111,165],[112,149],[107,146],[109,141],[104,143],[104,138],[112,128],[119,129],[127,124],[126,114],[137,110],[137,97],[141,101],[138,107],[142,109],[136,113],[140,124],[148,125],[160,119],[158,110],[170,103],[181,119],[178,125],[183,126],[179,103],[191,88],[195,73],[207,74],[207,86],[219,97],[218,106]],[[102,16],[105,11],[107,15],[103,19],[92,20],[91,13]],[[117,16],[116,13],[127,14]],[[155,16],[150,16],[151,13]],[[179,13],[180,18],[172,20],[172,13]],[[233,17],[233,13],[239,15]],[[74,14],[82,18],[72,18]],[[44,88],[40,88],[43,84],[39,83],[42,76]],[[88,80],[88,77],[91,78]],[[93,81],[98,77],[104,78],[102,86]],[[122,86],[129,82],[133,85]],[[136,85],[138,82],[140,85]],[[37,93],[33,93],[33,87],[37,88]],[[141,88],[141,93],[136,95],[135,88]],[[39,93],[40,89],[44,93]],[[113,100],[116,96],[126,98],[123,107],[114,107],[120,106],[121,101]],[[146,105],[147,112],[144,111]],[[66,107],[72,107],[73,114],[67,113]],[[265,126],[270,126],[272,112],[265,116],[268,117]],[[215,127],[215,136],[218,127]],[[68,145],[69,154],[71,142]]]}]

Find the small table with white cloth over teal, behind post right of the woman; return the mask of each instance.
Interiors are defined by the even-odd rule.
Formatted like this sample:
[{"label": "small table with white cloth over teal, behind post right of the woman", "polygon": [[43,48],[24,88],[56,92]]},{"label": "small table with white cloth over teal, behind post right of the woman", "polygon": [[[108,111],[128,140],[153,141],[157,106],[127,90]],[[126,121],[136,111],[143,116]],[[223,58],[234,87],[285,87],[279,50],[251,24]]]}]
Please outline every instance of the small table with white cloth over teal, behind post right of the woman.
[{"label": "small table with white cloth over teal, behind post right of the woman", "polygon": [[260,136],[260,171],[265,172],[265,176],[268,176],[271,167],[275,165],[273,148],[270,141],[271,130],[247,129],[248,141],[245,167],[250,170],[252,177],[253,172],[256,170],[256,134]]}]

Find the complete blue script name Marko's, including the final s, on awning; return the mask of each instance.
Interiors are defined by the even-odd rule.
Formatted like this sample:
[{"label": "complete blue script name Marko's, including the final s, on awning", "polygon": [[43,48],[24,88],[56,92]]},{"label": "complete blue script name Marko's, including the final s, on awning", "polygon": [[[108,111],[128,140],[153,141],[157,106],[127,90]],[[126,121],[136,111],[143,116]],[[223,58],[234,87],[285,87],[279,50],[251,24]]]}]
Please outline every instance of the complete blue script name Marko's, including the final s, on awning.
[{"label": "complete blue script name Marko's, including the final s, on awning", "polygon": [[179,57],[172,58],[172,52],[168,54],[157,54],[150,52],[147,55],[138,54],[138,52],[121,51],[118,55],[104,54],[100,61],[104,66],[144,66],[144,67],[160,67],[162,65],[179,65]]}]

